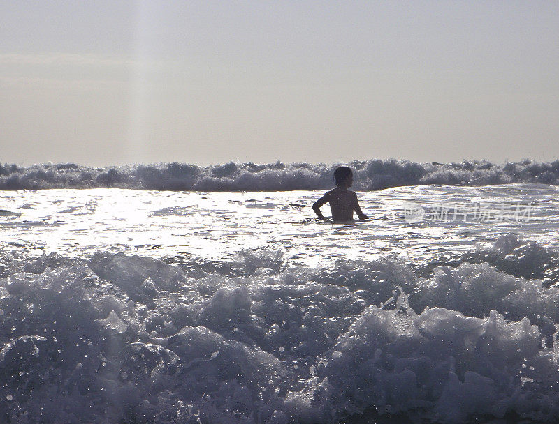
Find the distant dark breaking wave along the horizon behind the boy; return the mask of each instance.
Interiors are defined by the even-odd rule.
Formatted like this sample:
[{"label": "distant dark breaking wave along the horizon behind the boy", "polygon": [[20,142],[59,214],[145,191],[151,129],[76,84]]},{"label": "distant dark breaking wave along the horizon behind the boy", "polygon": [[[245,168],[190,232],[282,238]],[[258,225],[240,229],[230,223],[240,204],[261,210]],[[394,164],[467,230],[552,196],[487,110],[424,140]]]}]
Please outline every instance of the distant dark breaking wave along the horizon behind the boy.
[{"label": "distant dark breaking wave along the horizon behind the boy", "polygon": [[[356,176],[356,190],[381,190],[400,185],[503,183],[559,184],[555,162],[487,161],[439,164],[403,160],[355,160],[349,164]],[[146,190],[276,191],[324,190],[333,185],[338,165],[282,162],[268,165],[226,163],[201,167],[177,162],[159,165],[126,165],[92,168],[73,163],[31,167],[0,165],[0,190],[42,188],[117,187]]]}]

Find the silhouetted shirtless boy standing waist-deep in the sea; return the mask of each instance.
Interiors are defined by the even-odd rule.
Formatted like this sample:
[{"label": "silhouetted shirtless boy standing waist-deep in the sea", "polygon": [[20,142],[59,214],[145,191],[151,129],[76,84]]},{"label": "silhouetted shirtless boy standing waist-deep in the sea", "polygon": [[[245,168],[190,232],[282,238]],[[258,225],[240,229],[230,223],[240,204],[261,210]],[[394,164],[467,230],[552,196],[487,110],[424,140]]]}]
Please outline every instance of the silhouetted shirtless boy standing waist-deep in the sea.
[{"label": "silhouetted shirtless boy standing waist-deep in the sea", "polygon": [[324,220],[320,206],[330,203],[333,221],[351,221],[354,219],[354,211],[356,211],[360,220],[368,219],[367,215],[359,207],[355,192],[347,190],[354,182],[354,173],[351,171],[351,168],[338,167],[334,171],[334,179],[336,181],[336,188],[326,192],[326,195],[322,196],[312,205],[314,213],[321,220]]}]

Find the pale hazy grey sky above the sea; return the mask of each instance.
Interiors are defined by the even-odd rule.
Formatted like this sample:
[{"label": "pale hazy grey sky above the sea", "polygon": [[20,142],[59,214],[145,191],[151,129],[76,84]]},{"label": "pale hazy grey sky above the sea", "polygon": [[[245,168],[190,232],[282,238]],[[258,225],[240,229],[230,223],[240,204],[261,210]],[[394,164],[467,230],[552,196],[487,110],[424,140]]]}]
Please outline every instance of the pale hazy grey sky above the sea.
[{"label": "pale hazy grey sky above the sea", "polygon": [[559,157],[559,1],[0,0],[0,162]]}]

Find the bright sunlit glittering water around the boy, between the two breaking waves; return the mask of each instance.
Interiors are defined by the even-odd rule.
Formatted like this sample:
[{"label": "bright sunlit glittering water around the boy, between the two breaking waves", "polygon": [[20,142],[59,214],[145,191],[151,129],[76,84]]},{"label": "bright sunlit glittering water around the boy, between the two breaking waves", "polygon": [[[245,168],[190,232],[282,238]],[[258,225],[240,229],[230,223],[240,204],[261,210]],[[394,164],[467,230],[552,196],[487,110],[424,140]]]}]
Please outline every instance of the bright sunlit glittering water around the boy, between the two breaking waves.
[{"label": "bright sunlit glittering water around the boy, between the two breaking waves", "polygon": [[[160,192],[145,190],[38,190],[0,192],[0,243],[73,256],[96,250],[157,257],[226,259],[243,249],[282,249],[317,265],[333,257],[372,259],[387,253],[411,259],[493,243],[504,232],[556,244],[558,189],[549,185],[414,186],[358,192],[368,222],[314,219],[310,206],[322,192]],[[534,204],[530,219],[515,222],[433,220],[406,222],[406,202],[437,205],[490,202]],[[468,203],[469,202],[469,203]],[[508,207],[507,206],[507,207]],[[324,206],[326,215],[328,206]]]}]

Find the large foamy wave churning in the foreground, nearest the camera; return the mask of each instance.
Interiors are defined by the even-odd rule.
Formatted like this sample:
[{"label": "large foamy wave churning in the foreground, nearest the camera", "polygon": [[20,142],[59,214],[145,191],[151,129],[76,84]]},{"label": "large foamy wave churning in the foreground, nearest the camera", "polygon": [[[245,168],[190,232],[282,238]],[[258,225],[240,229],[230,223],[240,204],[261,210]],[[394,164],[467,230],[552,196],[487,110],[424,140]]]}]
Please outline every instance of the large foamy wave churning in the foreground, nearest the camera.
[{"label": "large foamy wave churning in the foreground, nearest the camera", "polygon": [[470,255],[479,263],[425,273],[395,256],[308,268],[266,251],[180,266],[4,252],[0,416],[287,424],[374,411],[556,422],[559,271],[548,266],[544,283],[505,261],[541,264],[556,252],[506,235]]}]

